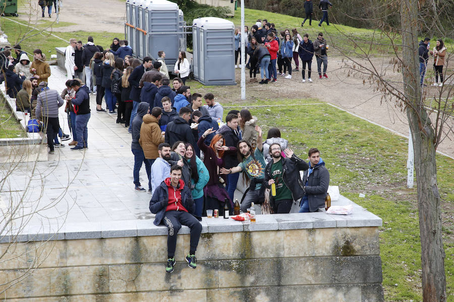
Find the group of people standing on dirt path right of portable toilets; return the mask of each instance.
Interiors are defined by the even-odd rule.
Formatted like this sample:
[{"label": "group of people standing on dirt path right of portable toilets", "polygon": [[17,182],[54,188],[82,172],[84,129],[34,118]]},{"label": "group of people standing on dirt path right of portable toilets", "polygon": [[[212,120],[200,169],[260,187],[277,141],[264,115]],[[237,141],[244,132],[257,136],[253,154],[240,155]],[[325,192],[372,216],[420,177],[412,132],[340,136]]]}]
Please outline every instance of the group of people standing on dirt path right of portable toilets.
[{"label": "group of people standing on dirt path right of portable toilets", "polygon": [[[327,49],[328,45],[323,38],[323,33],[319,33],[316,40],[312,42],[308,34],[303,37],[296,28],[285,29],[278,32],[273,23],[267,20],[257,20],[249,32],[248,26],[244,31],[237,28],[235,30],[235,67],[241,66],[241,37],[247,43],[245,47],[246,68],[249,69],[250,82],[256,82],[256,75],[260,72],[261,81],[259,84],[277,82],[280,75],[285,79],[292,79],[293,71],[300,71],[300,59],[302,61],[303,83],[306,82],[306,68],[308,81],[312,82],[312,59],[315,55],[317,60],[317,71],[319,79],[328,79],[326,69],[328,65]],[[292,69],[292,59],[295,68]],[[238,65],[240,60],[240,65]],[[322,68],[323,65],[323,68]],[[277,68],[276,68],[277,66]]]}]

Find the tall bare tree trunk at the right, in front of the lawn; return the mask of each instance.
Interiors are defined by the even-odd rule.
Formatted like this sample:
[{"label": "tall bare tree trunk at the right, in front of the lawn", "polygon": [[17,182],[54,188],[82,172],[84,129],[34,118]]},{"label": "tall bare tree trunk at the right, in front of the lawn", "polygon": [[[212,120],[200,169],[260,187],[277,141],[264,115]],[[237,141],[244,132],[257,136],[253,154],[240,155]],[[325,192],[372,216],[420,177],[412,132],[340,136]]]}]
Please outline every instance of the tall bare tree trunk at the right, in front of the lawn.
[{"label": "tall bare tree trunk at the right, in front of the lawn", "polygon": [[446,301],[440,195],[437,187],[433,125],[421,106],[417,35],[417,0],[401,2],[404,91],[415,151],[424,302]]}]

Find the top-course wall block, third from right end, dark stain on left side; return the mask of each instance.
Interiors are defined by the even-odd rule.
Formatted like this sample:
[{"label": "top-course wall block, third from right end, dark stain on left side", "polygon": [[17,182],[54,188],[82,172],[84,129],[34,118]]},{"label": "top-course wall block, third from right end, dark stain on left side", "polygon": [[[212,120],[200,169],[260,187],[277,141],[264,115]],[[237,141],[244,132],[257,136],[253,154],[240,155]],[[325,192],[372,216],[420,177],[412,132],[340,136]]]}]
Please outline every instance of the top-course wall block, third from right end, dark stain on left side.
[{"label": "top-course wall block, third from right end, dark stain on left side", "polygon": [[282,231],[233,233],[232,259],[283,257],[284,250]]}]

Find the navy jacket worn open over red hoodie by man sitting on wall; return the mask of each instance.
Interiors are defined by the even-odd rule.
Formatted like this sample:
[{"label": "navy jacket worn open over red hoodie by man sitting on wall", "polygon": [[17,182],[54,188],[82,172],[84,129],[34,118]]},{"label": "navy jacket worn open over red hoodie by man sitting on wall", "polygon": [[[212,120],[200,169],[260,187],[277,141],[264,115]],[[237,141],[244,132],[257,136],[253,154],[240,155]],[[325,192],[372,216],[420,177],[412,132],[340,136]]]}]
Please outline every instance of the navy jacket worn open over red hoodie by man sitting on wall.
[{"label": "navy jacket worn open over red hoodie by man sitting on wall", "polygon": [[[167,178],[170,180],[170,177]],[[194,199],[191,195],[191,190],[185,186],[183,181],[180,181],[180,189],[181,189],[181,203],[188,210],[190,214],[194,215]],[[162,218],[165,214],[165,209],[167,208],[168,204],[168,188],[165,184],[165,180],[161,182],[161,184],[154,190],[153,196],[150,200],[150,211],[153,214],[156,214],[154,218],[154,225],[159,225],[162,221]]]}]

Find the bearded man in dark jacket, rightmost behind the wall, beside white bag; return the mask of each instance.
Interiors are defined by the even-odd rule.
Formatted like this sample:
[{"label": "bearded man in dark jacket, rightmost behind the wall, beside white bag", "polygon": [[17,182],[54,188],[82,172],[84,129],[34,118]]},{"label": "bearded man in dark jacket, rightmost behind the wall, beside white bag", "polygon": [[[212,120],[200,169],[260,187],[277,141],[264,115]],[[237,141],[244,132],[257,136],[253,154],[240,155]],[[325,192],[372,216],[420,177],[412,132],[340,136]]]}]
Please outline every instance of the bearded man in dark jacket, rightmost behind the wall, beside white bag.
[{"label": "bearded man in dark jacket, rightmost behind the wall, beside white bag", "polygon": [[329,172],[318,149],[310,148],[308,155],[310,166],[303,175],[305,194],[300,202],[300,213],[315,212],[323,207],[329,186]]}]

